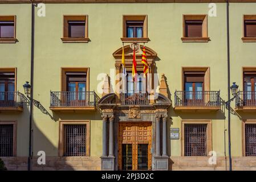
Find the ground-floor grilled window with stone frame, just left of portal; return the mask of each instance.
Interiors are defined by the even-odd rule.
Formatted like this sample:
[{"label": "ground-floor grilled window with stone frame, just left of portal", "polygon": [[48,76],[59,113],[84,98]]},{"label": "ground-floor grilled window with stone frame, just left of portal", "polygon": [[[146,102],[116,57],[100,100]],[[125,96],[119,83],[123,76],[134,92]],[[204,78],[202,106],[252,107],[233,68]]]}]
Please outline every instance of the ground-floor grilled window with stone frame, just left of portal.
[{"label": "ground-floor grilled window with stone frame, just left of portal", "polygon": [[60,156],[90,156],[90,121],[60,121]]}]

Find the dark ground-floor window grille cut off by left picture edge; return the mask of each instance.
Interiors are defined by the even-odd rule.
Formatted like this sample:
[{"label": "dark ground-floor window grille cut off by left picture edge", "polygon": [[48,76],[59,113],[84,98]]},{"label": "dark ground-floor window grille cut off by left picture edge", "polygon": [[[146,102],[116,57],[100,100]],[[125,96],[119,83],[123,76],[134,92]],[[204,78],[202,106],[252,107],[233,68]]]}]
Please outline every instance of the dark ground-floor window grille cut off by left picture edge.
[{"label": "dark ground-floor window grille cut off by left picture edge", "polygon": [[13,125],[0,125],[0,156],[13,156]]}]

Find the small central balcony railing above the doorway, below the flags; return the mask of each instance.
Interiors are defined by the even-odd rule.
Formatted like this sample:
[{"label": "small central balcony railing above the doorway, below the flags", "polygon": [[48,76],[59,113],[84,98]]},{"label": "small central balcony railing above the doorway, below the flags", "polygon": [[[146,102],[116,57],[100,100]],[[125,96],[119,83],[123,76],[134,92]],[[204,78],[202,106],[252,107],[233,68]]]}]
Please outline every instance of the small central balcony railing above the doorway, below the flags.
[{"label": "small central balcony railing above the doorway, below the flags", "polygon": [[122,105],[148,105],[148,93],[121,93],[120,104]]}]

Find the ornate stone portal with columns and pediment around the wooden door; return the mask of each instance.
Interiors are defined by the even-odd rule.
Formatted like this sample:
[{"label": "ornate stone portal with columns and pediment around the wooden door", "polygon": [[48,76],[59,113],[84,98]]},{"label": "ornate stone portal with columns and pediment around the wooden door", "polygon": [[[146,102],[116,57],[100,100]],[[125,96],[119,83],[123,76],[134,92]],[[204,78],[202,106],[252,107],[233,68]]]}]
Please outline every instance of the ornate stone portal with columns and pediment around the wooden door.
[{"label": "ornate stone portal with columns and pediment around the wooden door", "polygon": [[[116,73],[121,72],[121,51],[122,48],[113,53],[113,56],[116,58]],[[131,48],[129,46],[125,46],[124,51],[125,64],[127,65],[127,68],[130,68],[132,63]],[[149,73],[153,73],[153,65],[155,65],[154,59],[157,54],[148,47],[146,47],[146,53],[151,67]],[[140,57],[141,55],[136,55],[137,63],[140,62],[138,61],[140,60]],[[120,81],[121,78],[116,79],[117,82]],[[106,83],[107,80],[108,79],[105,78],[103,90],[109,90],[110,84]],[[133,127],[132,123],[149,122],[151,123],[152,129],[150,130],[150,134],[148,134],[148,137],[151,137],[151,143],[149,145],[150,149],[148,152],[151,152],[151,155],[149,156],[152,156],[152,158],[150,159],[150,166],[148,166],[148,169],[168,170],[169,156],[167,151],[166,122],[168,120],[168,108],[172,102],[168,98],[168,88],[166,86],[164,75],[161,76],[160,93],[149,92],[151,94],[146,96],[148,97],[149,102],[143,102],[143,104],[122,102],[122,98],[120,97],[121,94],[117,94],[120,93],[120,89],[121,88],[116,88],[116,93],[104,93],[103,97],[99,100],[99,107],[102,111],[103,118],[103,154],[101,156],[101,170],[123,169],[123,166],[121,165],[122,160],[117,160],[118,157],[120,158],[120,156],[122,156],[120,155],[121,151],[119,151],[119,123],[129,123],[129,126]],[[157,94],[157,97],[153,100],[151,99],[152,97],[150,97],[153,96],[152,93]],[[136,126],[138,125],[134,124],[134,127]],[[162,139],[160,138],[161,133]],[[137,157],[138,156],[136,156],[136,158]],[[137,168],[135,167],[135,169]]]}]

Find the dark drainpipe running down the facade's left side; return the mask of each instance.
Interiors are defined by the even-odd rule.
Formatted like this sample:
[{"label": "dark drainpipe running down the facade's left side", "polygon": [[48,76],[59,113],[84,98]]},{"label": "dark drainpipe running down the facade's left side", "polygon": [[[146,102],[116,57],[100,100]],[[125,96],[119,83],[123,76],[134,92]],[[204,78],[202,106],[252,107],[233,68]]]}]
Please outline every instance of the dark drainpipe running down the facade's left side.
[{"label": "dark drainpipe running down the facade's left side", "polygon": [[34,87],[34,27],[35,27],[35,5],[31,0],[31,65],[30,65],[30,83],[31,83],[31,100],[30,100],[30,116],[29,116],[29,158],[27,163],[27,170],[31,171],[32,169],[32,114],[33,114],[33,87]]}]

